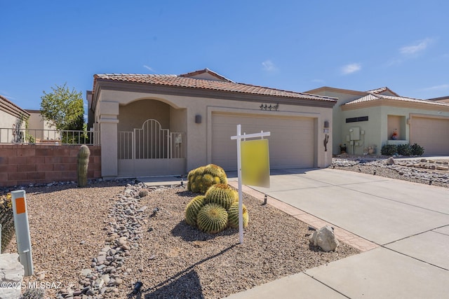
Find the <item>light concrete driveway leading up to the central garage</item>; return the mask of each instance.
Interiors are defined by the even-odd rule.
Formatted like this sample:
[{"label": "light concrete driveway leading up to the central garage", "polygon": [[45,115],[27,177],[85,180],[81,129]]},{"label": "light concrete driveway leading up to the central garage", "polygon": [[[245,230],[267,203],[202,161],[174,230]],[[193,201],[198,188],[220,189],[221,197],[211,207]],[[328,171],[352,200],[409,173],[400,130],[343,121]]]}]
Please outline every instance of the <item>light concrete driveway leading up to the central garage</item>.
[{"label": "light concrete driveway leading up to the central garage", "polygon": [[337,169],[270,179],[251,188],[379,246],[229,298],[449,298],[447,188]]}]

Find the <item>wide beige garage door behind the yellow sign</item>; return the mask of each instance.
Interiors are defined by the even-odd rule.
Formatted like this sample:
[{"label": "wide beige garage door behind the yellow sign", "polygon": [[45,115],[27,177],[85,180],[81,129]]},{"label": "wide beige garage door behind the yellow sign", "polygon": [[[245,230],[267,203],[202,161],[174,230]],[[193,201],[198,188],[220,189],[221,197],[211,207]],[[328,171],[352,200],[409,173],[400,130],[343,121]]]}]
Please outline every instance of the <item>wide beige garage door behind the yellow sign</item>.
[{"label": "wide beige garage door behind the yellow sign", "polygon": [[269,163],[272,169],[314,167],[315,130],[313,118],[275,118],[213,113],[212,162],[225,170],[237,169],[237,125],[246,134],[271,132]]}]

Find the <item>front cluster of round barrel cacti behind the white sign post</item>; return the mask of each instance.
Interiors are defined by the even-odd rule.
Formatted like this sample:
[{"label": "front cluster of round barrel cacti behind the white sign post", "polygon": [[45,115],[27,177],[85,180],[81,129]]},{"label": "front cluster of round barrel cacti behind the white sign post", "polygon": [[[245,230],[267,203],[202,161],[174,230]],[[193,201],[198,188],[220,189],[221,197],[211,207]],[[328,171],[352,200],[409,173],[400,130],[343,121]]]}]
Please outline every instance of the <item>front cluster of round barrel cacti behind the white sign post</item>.
[{"label": "front cluster of round barrel cacti behind the white sign post", "polygon": [[[227,183],[217,183],[208,188],[205,195],[198,195],[187,204],[185,220],[203,232],[215,234],[228,226],[239,228],[239,196]],[[248,226],[249,216],[243,204],[243,227]]]}]

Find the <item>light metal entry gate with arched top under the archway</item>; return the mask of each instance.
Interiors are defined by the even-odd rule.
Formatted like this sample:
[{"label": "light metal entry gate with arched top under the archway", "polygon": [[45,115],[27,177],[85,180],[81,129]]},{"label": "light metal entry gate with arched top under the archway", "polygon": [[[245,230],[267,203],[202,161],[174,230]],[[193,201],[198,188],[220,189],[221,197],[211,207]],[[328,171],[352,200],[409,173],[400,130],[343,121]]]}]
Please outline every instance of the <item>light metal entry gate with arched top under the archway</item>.
[{"label": "light metal entry gate with arched top under the archway", "polygon": [[185,173],[185,133],[162,129],[154,119],[142,128],[119,132],[119,176],[161,176]]}]

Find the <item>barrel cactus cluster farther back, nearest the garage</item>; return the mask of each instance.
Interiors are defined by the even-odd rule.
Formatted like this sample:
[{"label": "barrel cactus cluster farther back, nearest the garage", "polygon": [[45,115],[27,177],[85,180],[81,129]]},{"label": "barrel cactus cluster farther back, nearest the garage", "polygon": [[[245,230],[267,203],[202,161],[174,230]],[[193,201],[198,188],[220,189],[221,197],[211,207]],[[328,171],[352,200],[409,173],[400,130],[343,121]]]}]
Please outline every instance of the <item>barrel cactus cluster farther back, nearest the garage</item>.
[{"label": "barrel cactus cluster farther back, nearest the garage", "polygon": [[210,186],[216,183],[227,184],[227,176],[222,167],[209,164],[193,169],[187,175],[187,190],[205,194]]}]

